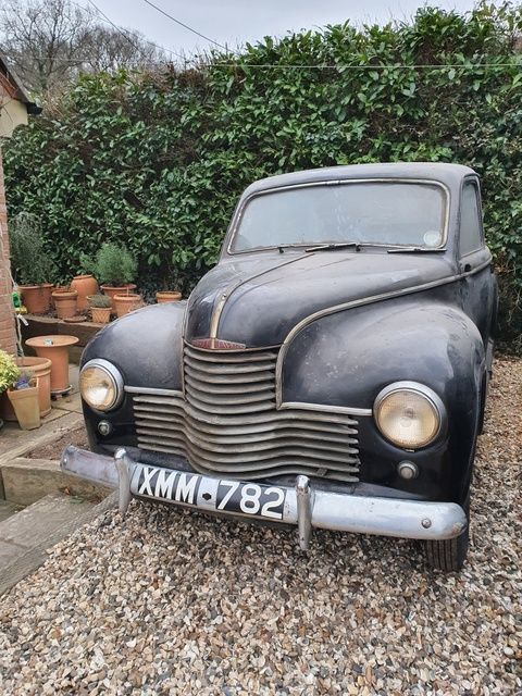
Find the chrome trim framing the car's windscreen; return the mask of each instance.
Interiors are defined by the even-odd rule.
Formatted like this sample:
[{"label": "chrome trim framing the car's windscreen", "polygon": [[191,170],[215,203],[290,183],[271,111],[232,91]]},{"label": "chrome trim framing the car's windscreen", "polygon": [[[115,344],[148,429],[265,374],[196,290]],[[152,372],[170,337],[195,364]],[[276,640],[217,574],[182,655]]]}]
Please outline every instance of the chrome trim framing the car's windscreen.
[{"label": "chrome trim framing the car's windscreen", "polygon": [[[245,198],[243,206],[240,207],[240,209],[238,209],[236,211],[236,214],[234,216],[234,220],[232,221],[232,226],[231,226],[231,237],[228,239],[228,244],[226,246],[226,252],[234,257],[234,256],[238,256],[240,253],[252,253],[256,251],[266,251],[268,249],[277,249],[277,245],[274,245],[272,247],[253,247],[252,249],[244,249],[243,251],[233,251],[232,250],[232,245],[233,241],[236,237],[237,234],[237,228],[239,226],[239,223],[241,222],[241,217],[243,214],[245,212],[245,209],[247,207],[247,204],[253,199],[253,198],[258,198],[259,196],[266,196],[268,194],[277,194],[281,191],[287,191],[287,190],[293,190],[296,188],[311,188],[311,187],[316,187],[316,186],[349,186],[350,184],[421,184],[423,186],[438,186],[439,188],[442,188],[444,190],[444,192],[446,194],[445,196],[445,201],[444,201],[444,229],[443,229],[443,240],[439,245],[439,247],[444,247],[446,244],[446,240],[448,238],[448,225],[449,225],[449,203],[451,200],[450,197],[450,190],[448,188],[448,186],[446,186],[446,184],[444,184],[443,182],[438,182],[437,179],[430,179],[430,178],[408,178],[408,177],[373,177],[373,178],[341,178],[341,179],[326,179],[326,181],[322,181],[322,182],[309,182],[307,184],[294,184],[291,186],[275,186],[274,188],[266,188],[263,191],[257,191],[254,194],[250,194],[250,196],[247,196],[247,198]],[[320,244],[320,243],[318,243]],[[311,245],[313,245],[313,243],[308,241],[307,244],[296,244],[296,245],[290,245],[290,248],[296,248],[299,249],[300,247],[310,247]],[[361,245],[364,246],[364,243],[361,241]],[[368,243],[369,246],[371,247],[378,247],[378,248],[389,248],[389,247],[394,247],[394,246],[399,246],[402,247],[402,245],[389,245],[389,244],[373,244],[373,243]],[[284,245],[285,246],[285,245]],[[411,246],[415,246],[415,245],[409,245]]]}]

